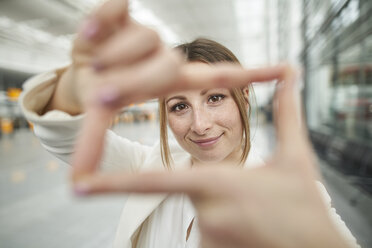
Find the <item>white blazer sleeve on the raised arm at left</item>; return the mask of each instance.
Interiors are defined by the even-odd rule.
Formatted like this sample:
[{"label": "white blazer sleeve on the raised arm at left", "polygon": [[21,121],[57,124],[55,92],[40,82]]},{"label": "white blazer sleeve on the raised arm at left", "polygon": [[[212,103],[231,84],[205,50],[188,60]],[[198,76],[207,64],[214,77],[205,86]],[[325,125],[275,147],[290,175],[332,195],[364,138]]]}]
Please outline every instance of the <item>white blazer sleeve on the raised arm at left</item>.
[{"label": "white blazer sleeve on the raised arm at left", "polygon": [[[47,72],[29,79],[23,86],[20,104],[26,119],[34,125],[35,135],[42,146],[69,163],[84,115],[71,116],[58,110],[40,114],[56,88],[57,74],[57,71]],[[101,162],[103,169],[138,170],[146,154],[152,149],[120,137],[110,130],[106,133],[105,142]]]}]

